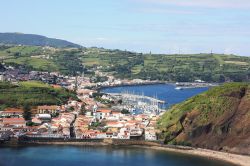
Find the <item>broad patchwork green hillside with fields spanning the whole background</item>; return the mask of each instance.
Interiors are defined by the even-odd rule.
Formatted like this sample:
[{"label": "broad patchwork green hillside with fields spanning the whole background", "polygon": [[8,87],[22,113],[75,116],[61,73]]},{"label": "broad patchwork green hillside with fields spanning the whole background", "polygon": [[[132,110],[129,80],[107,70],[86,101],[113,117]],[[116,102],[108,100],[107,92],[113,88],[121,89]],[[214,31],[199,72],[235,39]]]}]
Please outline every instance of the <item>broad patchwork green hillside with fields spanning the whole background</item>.
[{"label": "broad patchwork green hillside with fields spanning the whole background", "polygon": [[249,81],[250,58],[222,54],[141,54],[103,48],[1,46],[0,59],[32,70],[74,74],[96,69],[119,78],[165,81]]}]

